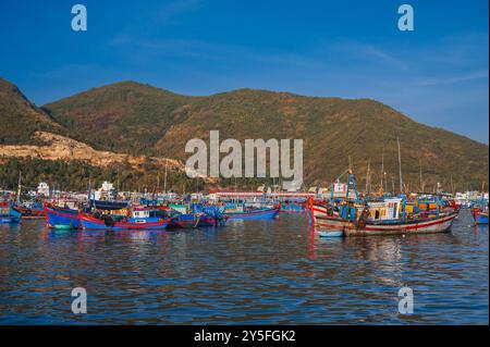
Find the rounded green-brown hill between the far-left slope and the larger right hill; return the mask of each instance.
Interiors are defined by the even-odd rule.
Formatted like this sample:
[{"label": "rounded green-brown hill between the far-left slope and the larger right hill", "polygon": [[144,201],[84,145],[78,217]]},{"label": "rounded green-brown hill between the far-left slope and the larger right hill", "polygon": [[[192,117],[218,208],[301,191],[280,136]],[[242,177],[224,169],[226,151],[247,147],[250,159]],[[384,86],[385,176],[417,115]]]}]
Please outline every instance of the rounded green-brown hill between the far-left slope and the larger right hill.
[{"label": "rounded green-brown hill between the far-left slope and the larger right hill", "polygon": [[101,149],[152,153],[155,144],[180,119],[184,96],[134,82],[121,82],[44,106],[72,137]]}]

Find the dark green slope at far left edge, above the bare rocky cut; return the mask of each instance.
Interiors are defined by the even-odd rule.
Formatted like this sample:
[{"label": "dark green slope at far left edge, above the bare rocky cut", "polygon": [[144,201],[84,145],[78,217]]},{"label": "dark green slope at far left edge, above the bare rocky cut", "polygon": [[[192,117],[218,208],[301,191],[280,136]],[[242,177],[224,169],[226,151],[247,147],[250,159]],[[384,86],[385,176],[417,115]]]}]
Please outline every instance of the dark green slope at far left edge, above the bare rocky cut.
[{"label": "dark green slope at far left edge, above the bare rocky cut", "polygon": [[60,124],[0,77],[0,145],[33,144],[36,131],[64,134]]}]

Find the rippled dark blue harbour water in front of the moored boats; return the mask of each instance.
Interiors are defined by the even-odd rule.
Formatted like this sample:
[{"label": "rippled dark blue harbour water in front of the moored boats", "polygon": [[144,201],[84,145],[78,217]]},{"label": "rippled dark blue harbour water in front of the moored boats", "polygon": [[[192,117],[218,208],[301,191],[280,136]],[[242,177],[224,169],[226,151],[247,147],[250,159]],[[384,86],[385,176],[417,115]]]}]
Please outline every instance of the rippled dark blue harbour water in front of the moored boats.
[{"label": "rippled dark blue harbour water in front of the moored boats", "polygon": [[[284,214],[182,232],[1,225],[0,323],[488,324],[488,226],[469,224],[463,211],[452,233],[344,239]],[[71,311],[74,287],[86,314]]]}]

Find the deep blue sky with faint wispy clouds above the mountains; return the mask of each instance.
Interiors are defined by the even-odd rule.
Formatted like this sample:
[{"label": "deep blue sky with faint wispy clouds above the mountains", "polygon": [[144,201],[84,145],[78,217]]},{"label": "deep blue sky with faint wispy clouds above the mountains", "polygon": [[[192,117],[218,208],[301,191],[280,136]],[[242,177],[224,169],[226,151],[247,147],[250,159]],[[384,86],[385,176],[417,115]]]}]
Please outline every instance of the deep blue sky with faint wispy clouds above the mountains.
[{"label": "deep blue sky with faint wispy clouds above the mountains", "polygon": [[[488,1],[2,1],[0,76],[37,104],[124,79],[372,98],[488,144]],[[85,4],[88,30],[71,29]],[[409,3],[415,30],[397,29]]]}]

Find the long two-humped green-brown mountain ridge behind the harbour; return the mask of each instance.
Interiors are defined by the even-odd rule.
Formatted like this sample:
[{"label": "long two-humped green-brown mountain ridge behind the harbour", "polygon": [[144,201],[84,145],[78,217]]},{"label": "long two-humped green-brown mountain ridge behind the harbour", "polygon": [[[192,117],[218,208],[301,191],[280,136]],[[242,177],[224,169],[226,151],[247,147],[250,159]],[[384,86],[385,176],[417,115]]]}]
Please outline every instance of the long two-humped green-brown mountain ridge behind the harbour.
[{"label": "long two-humped green-brown mountain ridge behind the harbour", "polygon": [[367,168],[375,188],[384,178],[399,187],[397,145],[403,181],[425,190],[441,183],[450,190],[477,188],[488,181],[487,145],[417,123],[369,99],[304,97],[240,89],[209,97],[185,97],[134,82],[123,82],[44,107],[60,124],[102,149],[151,153],[185,160],[191,138],[302,138],[308,184],[328,184],[353,164],[364,187]]}]

